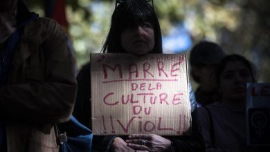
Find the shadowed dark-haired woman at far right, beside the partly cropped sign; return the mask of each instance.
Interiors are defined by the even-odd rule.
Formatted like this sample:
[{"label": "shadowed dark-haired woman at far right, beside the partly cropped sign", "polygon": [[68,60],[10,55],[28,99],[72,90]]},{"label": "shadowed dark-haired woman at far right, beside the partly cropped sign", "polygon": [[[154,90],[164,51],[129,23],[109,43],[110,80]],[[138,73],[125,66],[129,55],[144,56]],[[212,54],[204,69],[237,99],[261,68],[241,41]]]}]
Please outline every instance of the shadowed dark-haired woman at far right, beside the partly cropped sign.
[{"label": "shadowed dark-haired woman at far right, beside the partly cropped sign", "polygon": [[246,144],[246,83],[255,82],[253,64],[228,55],[217,66],[216,78],[221,101],[199,108],[206,151],[262,151]]}]

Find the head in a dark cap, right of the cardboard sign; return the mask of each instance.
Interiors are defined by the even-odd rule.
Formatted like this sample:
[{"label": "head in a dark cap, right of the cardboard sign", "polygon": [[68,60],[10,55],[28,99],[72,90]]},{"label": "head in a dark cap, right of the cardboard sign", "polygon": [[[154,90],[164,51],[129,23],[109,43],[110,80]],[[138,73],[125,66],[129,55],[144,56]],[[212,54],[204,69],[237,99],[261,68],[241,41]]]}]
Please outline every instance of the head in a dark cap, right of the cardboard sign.
[{"label": "head in a dark cap, right of the cardboard sign", "polygon": [[[210,41],[201,41],[190,51],[191,75],[204,91],[213,91],[216,88],[215,66],[225,57],[221,46]],[[215,81],[214,81],[215,82]]]}]

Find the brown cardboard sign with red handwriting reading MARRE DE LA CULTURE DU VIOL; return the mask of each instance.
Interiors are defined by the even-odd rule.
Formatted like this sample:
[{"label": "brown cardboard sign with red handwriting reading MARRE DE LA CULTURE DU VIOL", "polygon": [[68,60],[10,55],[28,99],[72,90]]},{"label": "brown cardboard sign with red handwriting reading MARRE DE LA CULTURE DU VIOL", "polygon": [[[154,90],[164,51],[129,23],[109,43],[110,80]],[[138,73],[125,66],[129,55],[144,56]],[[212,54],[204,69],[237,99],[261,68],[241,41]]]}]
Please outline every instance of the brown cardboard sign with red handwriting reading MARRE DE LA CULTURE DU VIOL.
[{"label": "brown cardboard sign with red handwriting reading MARRE DE LA CULTURE DU VIOL", "polygon": [[190,128],[186,55],[91,54],[97,135],[181,135]]}]

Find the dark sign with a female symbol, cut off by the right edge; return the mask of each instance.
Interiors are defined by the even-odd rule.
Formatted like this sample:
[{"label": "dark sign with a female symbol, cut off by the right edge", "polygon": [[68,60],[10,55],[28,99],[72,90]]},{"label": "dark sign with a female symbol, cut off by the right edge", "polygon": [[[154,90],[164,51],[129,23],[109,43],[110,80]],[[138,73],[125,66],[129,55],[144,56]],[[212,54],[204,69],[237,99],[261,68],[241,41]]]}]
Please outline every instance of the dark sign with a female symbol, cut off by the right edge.
[{"label": "dark sign with a female symbol, cut off by the right edge", "polygon": [[247,84],[248,145],[270,145],[270,83]]}]

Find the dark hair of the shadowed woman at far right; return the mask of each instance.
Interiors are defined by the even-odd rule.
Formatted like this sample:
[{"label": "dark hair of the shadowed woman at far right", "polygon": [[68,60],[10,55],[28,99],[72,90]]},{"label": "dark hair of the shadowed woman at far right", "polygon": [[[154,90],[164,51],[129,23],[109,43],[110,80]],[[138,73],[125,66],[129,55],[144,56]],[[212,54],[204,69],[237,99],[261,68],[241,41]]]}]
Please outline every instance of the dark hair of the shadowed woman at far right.
[{"label": "dark hair of the shadowed woman at far right", "polygon": [[242,61],[244,66],[246,66],[246,68],[248,68],[249,72],[251,73],[252,82],[256,82],[257,72],[256,72],[255,66],[251,63],[251,61],[249,61],[242,55],[233,54],[233,55],[227,55],[226,57],[224,57],[217,65],[217,68],[215,70],[215,76],[217,78],[218,85],[220,85],[219,79],[224,71],[224,68],[230,61]]}]

